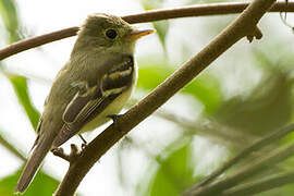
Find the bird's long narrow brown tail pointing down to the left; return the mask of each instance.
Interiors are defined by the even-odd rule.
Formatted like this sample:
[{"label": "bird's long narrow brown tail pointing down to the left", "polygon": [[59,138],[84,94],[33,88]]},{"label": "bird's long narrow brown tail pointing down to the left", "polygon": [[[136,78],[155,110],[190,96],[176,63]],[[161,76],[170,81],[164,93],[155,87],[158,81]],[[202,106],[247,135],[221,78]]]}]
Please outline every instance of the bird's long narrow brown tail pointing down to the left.
[{"label": "bird's long narrow brown tail pointing down to the left", "polygon": [[[51,138],[52,137],[52,138]],[[36,147],[33,149],[33,154],[28,158],[23,173],[15,187],[15,193],[24,193],[35,174],[37,173],[42,159],[46,154],[50,150],[53,140],[52,135],[42,134],[37,142]]]}]

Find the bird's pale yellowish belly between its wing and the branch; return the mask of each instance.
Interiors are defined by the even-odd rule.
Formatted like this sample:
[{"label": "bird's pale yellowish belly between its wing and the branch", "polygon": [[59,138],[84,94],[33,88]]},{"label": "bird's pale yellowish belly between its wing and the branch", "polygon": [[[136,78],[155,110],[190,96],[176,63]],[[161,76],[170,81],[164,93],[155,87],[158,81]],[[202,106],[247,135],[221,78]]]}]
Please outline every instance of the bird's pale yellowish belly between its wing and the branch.
[{"label": "bird's pale yellowish belly between its wing and the branch", "polygon": [[131,95],[136,86],[136,79],[137,79],[137,70],[135,66],[132,86],[130,86],[128,89],[126,89],[123,94],[121,94],[119,97],[117,97],[113,100],[113,102],[111,102],[106,108],[106,110],[103,110],[99,115],[97,115],[94,120],[91,120],[90,122],[85,124],[81,128],[81,132],[93,131],[96,127],[98,127],[98,126],[105,124],[106,122],[108,122],[109,120],[111,120],[110,118],[108,118],[108,115],[118,114],[123,109],[123,107],[127,102],[128,98],[131,97]]}]

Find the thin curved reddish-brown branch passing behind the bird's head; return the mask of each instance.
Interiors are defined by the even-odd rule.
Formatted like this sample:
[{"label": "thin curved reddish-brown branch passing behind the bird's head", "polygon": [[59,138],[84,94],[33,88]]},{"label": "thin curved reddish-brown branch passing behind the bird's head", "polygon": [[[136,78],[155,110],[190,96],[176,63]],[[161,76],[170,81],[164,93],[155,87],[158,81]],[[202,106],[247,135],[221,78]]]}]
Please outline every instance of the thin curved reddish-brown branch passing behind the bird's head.
[{"label": "thin curved reddish-brown branch passing behind the bird's head", "polygon": [[[154,10],[138,14],[125,15],[122,19],[130,24],[134,23],[147,23],[152,21],[191,17],[191,16],[204,16],[204,15],[223,15],[242,12],[248,3],[211,3],[200,4],[193,7],[183,7],[177,9],[162,9]],[[294,12],[294,2],[278,2],[269,10],[270,12]],[[45,34],[41,36],[28,38],[15,44],[12,44],[3,49],[0,49],[0,60],[3,60],[10,56],[19,52],[52,42],[59,39],[64,39],[76,35],[78,30],[77,26],[64,28],[53,33]]]}]

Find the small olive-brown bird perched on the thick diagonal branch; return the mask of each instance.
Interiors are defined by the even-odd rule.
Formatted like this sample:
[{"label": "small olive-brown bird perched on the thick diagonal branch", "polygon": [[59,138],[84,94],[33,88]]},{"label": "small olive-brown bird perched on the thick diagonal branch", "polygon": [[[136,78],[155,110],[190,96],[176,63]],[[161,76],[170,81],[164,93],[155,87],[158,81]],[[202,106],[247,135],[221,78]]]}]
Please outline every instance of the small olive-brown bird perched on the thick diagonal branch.
[{"label": "small olive-brown bird perched on the thick diagonal branch", "polygon": [[69,61],[57,74],[45,100],[37,138],[15,193],[26,191],[50,150],[121,111],[137,81],[136,40],[154,32],[139,30],[115,15],[88,15],[77,32]]}]

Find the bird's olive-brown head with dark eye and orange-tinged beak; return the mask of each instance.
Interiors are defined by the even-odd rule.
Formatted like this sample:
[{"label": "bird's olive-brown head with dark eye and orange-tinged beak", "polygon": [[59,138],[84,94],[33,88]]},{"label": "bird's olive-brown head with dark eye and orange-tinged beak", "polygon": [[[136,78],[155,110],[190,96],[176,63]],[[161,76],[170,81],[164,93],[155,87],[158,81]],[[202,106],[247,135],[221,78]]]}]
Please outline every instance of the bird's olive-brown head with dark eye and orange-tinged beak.
[{"label": "bird's olive-brown head with dark eye and orange-tinged beak", "polygon": [[154,29],[138,30],[121,17],[109,14],[91,14],[78,32],[79,50],[102,50],[133,53],[138,38],[154,33]]}]

